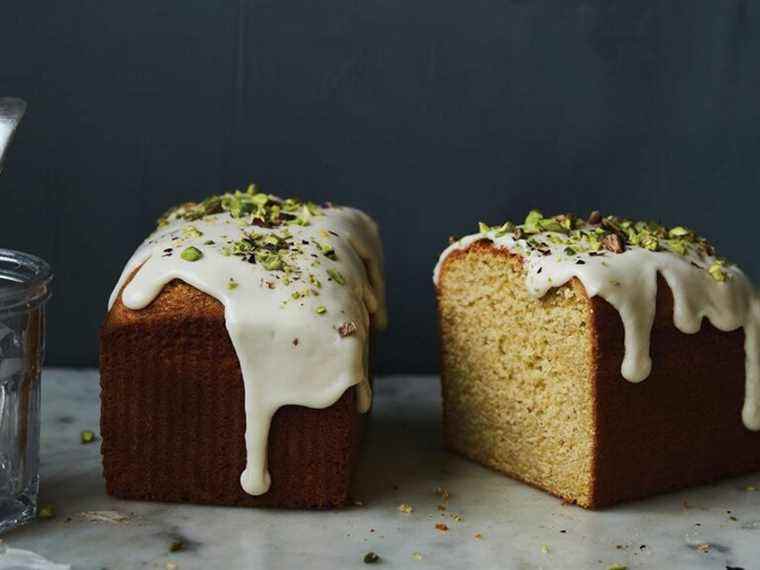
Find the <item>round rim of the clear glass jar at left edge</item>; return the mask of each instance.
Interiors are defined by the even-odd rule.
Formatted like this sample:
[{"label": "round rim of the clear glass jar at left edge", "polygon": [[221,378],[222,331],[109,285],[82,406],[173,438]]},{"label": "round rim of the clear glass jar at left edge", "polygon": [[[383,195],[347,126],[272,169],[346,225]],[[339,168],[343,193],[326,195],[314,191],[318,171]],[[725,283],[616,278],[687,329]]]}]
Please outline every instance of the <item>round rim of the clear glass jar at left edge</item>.
[{"label": "round rim of the clear glass jar at left edge", "polygon": [[50,298],[53,273],[44,259],[0,248],[0,313],[33,309]]}]

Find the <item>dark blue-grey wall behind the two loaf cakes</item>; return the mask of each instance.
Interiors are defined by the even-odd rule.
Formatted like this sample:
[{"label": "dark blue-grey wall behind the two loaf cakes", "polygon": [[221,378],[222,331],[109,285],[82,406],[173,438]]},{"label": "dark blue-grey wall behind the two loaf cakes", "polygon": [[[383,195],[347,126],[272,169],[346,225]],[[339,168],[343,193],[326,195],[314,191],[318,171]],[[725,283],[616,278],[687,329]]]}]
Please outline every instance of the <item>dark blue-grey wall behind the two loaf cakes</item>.
[{"label": "dark blue-grey wall behind the two loaf cakes", "polygon": [[50,260],[51,364],[91,365],[175,202],[258,181],[383,230],[382,372],[437,368],[431,271],[478,219],[687,223],[760,275],[760,5],[748,0],[4,2],[30,110],[0,245]]}]

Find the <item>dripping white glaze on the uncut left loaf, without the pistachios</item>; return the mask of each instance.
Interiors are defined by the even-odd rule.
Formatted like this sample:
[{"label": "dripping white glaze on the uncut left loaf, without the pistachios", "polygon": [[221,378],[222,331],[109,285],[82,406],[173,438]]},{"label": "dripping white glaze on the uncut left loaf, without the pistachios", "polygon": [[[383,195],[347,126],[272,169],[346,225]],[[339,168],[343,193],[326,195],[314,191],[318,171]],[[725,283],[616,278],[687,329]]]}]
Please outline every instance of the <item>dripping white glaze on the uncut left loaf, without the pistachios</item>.
[{"label": "dripping white glaze on the uncut left loaf, without the pistachios", "polygon": [[[375,223],[359,210],[340,207],[322,212],[308,226],[273,229],[243,227],[226,212],[193,222],[171,222],[137,249],[109,301],[110,308],[121,294],[127,308],[139,310],[147,307],[164,285],[180,279],[224,305],[227,331],[240,361],[245,388],[247,465],[240,482],[251,495],[269,489],[267,439],[278,408],[325,408],[355,385],[360,411],[366,412],[371,404],[369,315],[373,314],[377,327],[384,327],[386,322],[379,233]],[[188,236],[188,226],[202,235]],[[260,264],[223,254],[223,247],[240,240],[244,230],[281,235],[285,228],[293,236],[292,243],[304,250],[291,265],[304,277],[313,274],[321,282],[320,288],[310,286],[306,278],[286,285],[281,271],[268,271]],[[206,245],[209,240],[214,245]],[[337,259],[318,255],[314,241],[329,242]],[[200,260],[189,262],[180,257],[180,252],[191,245],[203,252]],[[170,256],[164,252],[168,248],[173,249]],[[338,270],[345,285],[329,279],[328,268]],[[124,287],[135,270],[134,278]],[[237,288],[228,287],[230,279]],[[295,291],[305,289],[317,291],[318,296],[293,299]],[[317,314],[319,306],[327,312]],[[342,337],[338,327],[345,322],[353,322],[356,332]]]}]

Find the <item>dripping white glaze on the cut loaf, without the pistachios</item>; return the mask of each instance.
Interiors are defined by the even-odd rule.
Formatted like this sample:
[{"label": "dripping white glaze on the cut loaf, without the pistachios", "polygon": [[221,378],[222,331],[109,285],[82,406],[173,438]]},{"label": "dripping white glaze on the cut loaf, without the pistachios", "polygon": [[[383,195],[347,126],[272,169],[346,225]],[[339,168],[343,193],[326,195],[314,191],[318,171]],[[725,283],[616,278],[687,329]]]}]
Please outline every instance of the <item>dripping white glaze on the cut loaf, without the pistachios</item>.
[{"label": "dripping white glaze on the cut loaf, without the pistachios", "polygon": [[[720,282],[706,271],[715,257],[693,249],[683,256],[636,246],[629,246],[620,254],[567,255],[565,245],[551,243],[552,232],[530,237],[545,241],[549,254],[543,255],[529,247],[525,239],[515,239],[512,233],[496,237],[491,230],[466,236],[441,254],[433,281],[437,286],[443,262],[451,252],[466,249],[482,239],[525,258],[526,287],[535,297],[542,297],[549,289],[577,277],[589,297],[602,297],[620,313],[625,329],[621,374],[630,382],[641,382],[652,369],[649,345],[659,273],[673,293],[673,323],[678,330],[696,333],[703,318],[722,331],[744,328],[746,391],[742,420],[748,429],[760,430],[760,300],[738,267],[727,266],[729,278]],[[578,260],[583,264],[577,264]]]}]

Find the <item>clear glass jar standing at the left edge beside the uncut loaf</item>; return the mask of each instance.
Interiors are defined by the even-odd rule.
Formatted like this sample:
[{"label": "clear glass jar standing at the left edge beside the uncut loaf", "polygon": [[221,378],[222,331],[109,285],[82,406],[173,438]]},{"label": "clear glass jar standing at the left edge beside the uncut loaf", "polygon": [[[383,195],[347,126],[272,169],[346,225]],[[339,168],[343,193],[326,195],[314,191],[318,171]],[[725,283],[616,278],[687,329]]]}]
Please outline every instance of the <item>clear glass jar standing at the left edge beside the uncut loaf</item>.
[{"label": "clear glass jar standing at the left edge beside the uncut loaf", "polygon": [[0,532],[34,518],[50,266],[0,249]]}]

